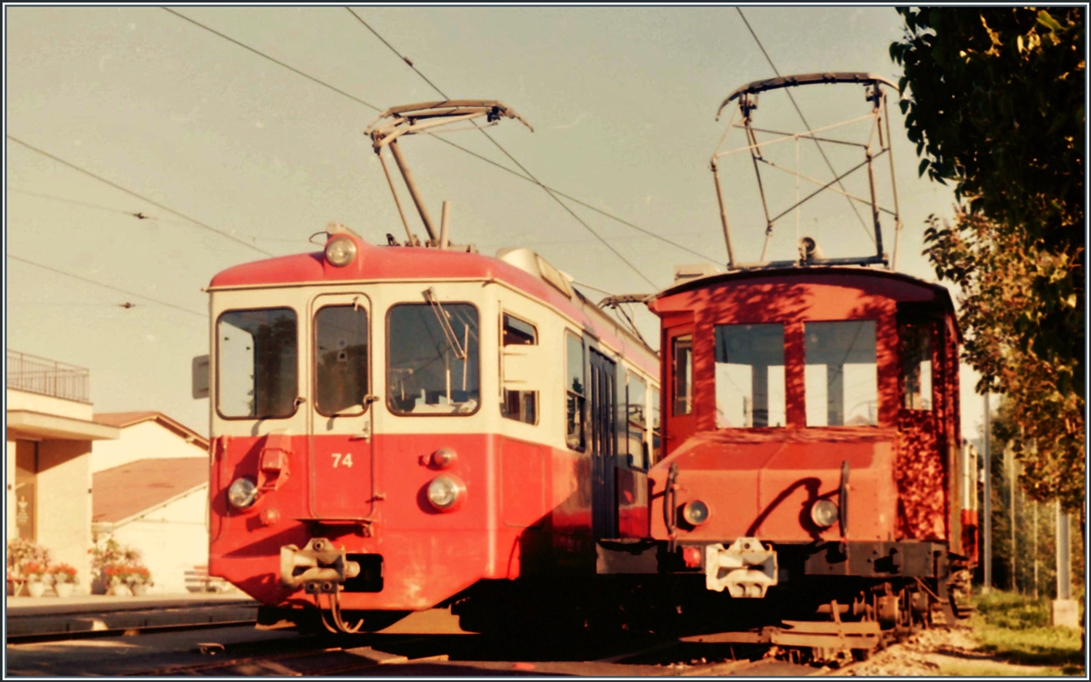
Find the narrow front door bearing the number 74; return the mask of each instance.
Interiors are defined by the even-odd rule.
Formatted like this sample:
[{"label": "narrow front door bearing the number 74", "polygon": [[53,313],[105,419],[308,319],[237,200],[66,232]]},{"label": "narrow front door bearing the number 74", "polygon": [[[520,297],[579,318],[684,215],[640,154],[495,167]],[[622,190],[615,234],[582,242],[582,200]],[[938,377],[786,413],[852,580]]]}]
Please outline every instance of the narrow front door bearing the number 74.
[{"label": "narrow front door bearing the number 74", "polygon": [[362,520],[374,504],[370,310],[356,293],[311,305],[308,497],[316,519]]}]

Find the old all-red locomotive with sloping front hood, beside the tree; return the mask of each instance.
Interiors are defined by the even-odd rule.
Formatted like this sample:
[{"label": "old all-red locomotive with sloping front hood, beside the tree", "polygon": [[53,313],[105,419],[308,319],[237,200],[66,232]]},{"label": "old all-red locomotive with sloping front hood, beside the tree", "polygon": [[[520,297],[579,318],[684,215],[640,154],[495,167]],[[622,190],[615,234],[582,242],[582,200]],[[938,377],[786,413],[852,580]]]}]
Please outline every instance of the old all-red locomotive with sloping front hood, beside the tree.
[{"label": "old all-red locomotive with sloping front hood, beside the tree", "polygon": [[650,307],[666,453],[649,472],[654,541],[604,544],[600,571],[688,572],[740,607],[839,600],[899,622],[975,563],[976,464],[960,447],[944,288],[864,267],[755,268]]}]

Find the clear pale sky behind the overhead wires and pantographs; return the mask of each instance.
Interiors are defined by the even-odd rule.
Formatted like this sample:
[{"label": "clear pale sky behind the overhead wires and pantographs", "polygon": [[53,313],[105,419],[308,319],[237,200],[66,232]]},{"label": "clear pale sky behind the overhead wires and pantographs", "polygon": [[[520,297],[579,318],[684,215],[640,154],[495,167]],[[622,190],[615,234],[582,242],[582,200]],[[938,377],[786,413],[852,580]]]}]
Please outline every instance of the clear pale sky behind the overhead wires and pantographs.
[{"label": "clear pale sky behind the overhead wires and pantographs", "polygon": [[[437,96],[344,7],[176,11],[345,94],[161,8],[5,8],[7,344],[88,367],[98,412],[159,410],[206,433],[207,401],[190,397],[190,361],[208,342],[202,287],[262,252],[312,251],[307,238],[333,220],[374,243],[404,235],[363,130],[375,108]],[[499,99],[533,124],[533,133],[513,121],[491,132],[543,183],[726,260],[708,170],[727,123],[715,121],[716,111],[740,85],[774,75],[734,8],[356,11],[448,96]],[[781,74],[864,71],[897,81],[888,48],[901,22],[890,8],[743,11]],[[866,113],[860,90],[849,95],[851,111]],[[813,125],[846,118],[839,96],[799,101]],[[772,115],[775,103],[788,106],[770,94],[759,112]],[[949,217],[952,196],[918,178],[894,105],[904,223],[898,269],[933,281],[920,255],[923,222],[928,214]],[[513,167],[477,133],[451,139]],[[454,241],[484,253],[529,246],[612,293],[651,289],[535,185],[435,139],[403,147],[433,216],[452,202]],[[753,184],[750,175],[745,182]],[[724,190],[741,235],[736,257],[757,259],[756,195],[744,194],[752,187],[742,175],[729,176]],[[870,247],[838,206],[804,229],[822,230],[828,255]],[[659,288],[675,265],[700,261],[571,207]],[[654,316],[639,315],[656,338]],[[963,435],[973,437],[981,398],[968,367],[962,377]]]}]

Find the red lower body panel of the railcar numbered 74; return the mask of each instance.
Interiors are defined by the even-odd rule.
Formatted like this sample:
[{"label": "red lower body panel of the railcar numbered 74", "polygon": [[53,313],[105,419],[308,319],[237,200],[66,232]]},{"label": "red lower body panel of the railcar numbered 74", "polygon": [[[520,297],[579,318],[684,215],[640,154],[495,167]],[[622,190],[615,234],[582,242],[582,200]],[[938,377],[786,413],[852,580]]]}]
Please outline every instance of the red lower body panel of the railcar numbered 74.
[{"label": "red lower body panel of the railcar numbered 74", "polygon": [[[312,599],[280,585],[279,551],[313,536],[328,537],[348,553],[383,557],[383,590],[344,593],[345,609],[431,608],[479,580],[514,579],[551,565],[594,573],[587,455],[496,435],[296,436],[288,439],[290,473],[281,486],[245,511],[229,509],[227,487],[239,476],[256,476],[269,440],[217,438],[211,476],[209,571],[265,604]],[[440,447],[457,453],[442,472],[466,484],[466,502],[452,513],[435,511],[424,495],[441,473],[430,464]],[[339,466],[331,452],[343,455]],[[350,467],[344,466],[346,453],[352,455]],[[266,509],[276,509],[280,521],[263,525]],[[369,523],[314,523],[332,517]]]}]

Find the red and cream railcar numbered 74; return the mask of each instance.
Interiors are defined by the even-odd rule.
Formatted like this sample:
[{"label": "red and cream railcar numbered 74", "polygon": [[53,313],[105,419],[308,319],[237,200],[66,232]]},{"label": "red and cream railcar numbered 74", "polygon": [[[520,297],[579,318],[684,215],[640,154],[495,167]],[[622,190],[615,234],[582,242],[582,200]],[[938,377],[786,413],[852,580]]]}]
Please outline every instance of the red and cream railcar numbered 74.
[{"label": "red and cream railcar numbered 74", "polygon": [[211,574],[370,630],[646,533],[654,352],[527,249],[327,235],[208,288]]}]

